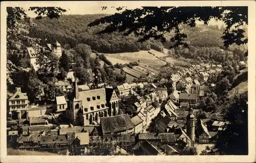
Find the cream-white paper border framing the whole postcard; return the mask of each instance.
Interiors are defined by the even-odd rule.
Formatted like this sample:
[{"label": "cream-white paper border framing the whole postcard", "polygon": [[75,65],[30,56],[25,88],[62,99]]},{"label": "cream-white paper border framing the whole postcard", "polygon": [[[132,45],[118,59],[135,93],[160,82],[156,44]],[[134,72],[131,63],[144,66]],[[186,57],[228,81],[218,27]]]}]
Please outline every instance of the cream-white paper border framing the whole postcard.
[{"label": "cream-white paper border framing the whole postcard", "polygon": [[[248,6],[248,127],[249,155],[230,156],[7,156],[6,150],[6,7],[57,6]],[[101,8],[100,8],[101,9]],[[255,1],[108,1],[108,2],[1,2],[1,162],[255,162]]]}]

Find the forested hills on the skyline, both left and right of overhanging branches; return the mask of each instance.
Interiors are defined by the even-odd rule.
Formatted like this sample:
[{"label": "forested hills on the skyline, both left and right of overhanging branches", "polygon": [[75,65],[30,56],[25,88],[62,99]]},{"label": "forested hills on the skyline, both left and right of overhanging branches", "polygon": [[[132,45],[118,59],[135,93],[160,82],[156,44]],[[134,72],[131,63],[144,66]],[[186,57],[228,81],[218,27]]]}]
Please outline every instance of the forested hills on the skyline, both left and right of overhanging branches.
[{"label": "forested hills on the skyline, both left and right of overhanging branches", "polygon": [[[90,45],[93,50],[105,53],[134,52],[149,49],[162,51],[162,44],[156,40],[138,43],[137,37],[125,37],[120,33],[96,35],[95,33],[104,29],[106,24],[100,24],[92,28],[88,28],[87,25],[104,16],[107,15],[62,15],[59,19],[34,19],[33,21],[37,26],[30,30],[30,35],[41,38],[43,44],[53,43],[57,39],[66,48],[68,46],[73,48],[78,43],[84,43]],[[183,29],[187,34],[187,40],[193,46],[223,47],[223,40],[221,39],[223,29],[217,26],[197,25],[196,28],[191,29],[187,25],[183,25]],[[167,38],[171,35],[167,34]],[[169,43],[164,44],[164,46],[169,46]]]}]

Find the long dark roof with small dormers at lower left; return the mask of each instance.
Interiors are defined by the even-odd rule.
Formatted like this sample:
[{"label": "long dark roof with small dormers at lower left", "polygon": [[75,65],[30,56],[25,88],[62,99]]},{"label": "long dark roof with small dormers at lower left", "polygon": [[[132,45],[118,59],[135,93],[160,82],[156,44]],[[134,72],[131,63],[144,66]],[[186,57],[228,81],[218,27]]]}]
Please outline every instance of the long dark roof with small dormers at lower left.
[{"label": "long dark roof with small dormers at lower left", "polygon": [[56,135],[56,136],[42,136],[40,144],[47,145],[47,144],[68,144],[68,140],[66,135]]}]

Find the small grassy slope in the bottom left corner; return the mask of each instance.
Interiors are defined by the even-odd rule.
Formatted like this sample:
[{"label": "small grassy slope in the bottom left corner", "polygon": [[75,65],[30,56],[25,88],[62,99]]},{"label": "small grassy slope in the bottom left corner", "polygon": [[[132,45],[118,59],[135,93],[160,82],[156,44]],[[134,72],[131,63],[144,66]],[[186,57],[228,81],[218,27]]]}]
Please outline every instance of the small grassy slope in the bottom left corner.
[{"label": "small grassy slope in the bottom left corner", "polygon": [[28,150],[7,148],[7,155],[55,155],[57,156],[58,154],[50,153],[50,152],[28,151]]}]

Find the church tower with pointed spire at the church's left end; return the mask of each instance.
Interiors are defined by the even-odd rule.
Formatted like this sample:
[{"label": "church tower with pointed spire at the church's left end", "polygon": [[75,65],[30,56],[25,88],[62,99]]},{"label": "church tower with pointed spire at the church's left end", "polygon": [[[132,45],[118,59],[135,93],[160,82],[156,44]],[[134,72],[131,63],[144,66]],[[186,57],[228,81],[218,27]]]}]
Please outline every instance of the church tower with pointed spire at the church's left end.
[{"label": "church tower with pointed spire at the church's left end", "polygon": [[70,98],[70,120],[73,125],[79,125],[82,120],[82,100],[79,99],[77,79],[75,79],[73,92]]}]

